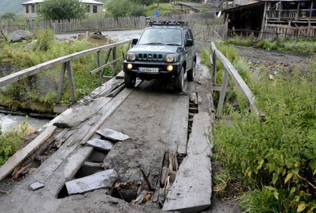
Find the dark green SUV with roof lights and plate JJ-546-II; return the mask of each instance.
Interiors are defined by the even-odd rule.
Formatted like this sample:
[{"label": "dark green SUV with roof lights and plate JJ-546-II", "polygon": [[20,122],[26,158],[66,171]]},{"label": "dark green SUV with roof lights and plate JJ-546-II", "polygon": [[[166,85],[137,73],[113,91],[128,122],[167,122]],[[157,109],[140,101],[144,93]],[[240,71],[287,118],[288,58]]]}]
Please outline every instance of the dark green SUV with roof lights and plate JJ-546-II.
[{"label": "dark green SUV with roof lights and plate JJ-546-II", "polygon": [[140,39],[133,39],[123,63],[127,88],[135,86],[136,78],[174,79],[174,90],[182,91],[184,74],[188,81],[195,75],[194,39],[187,22],[150,21]]}]

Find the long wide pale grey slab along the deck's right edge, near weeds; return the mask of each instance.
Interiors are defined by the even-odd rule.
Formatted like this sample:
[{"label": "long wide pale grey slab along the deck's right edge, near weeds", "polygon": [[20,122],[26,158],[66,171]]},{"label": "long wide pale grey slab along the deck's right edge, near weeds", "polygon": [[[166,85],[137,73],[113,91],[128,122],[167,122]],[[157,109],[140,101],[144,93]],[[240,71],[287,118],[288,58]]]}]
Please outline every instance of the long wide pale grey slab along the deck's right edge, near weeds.
[{"label": "long wide pale grey slab along the deck's right edge, near weeds", "polygon": [[212,165],[207,156],[212,153],[210,143],[203,135],[210,126],[208,114],[193,117],[188,155],[183,159],[175,181],[167,194],[164,211],[199,212],[210,206],[212,194]]}]

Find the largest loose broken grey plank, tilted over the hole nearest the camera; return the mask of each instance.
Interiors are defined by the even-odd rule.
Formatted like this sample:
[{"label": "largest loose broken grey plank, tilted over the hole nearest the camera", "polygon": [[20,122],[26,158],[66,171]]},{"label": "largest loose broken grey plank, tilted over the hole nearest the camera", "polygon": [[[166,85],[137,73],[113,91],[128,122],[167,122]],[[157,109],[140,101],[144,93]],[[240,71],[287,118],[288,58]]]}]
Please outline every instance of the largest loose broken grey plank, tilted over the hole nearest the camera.
[{"label": "largest loose broken grey plank, tilted over the hole nearest the camera", "polygon": [[69,195],[84,194],[96,189],[108,189],[111,191],[117,179],[116,171],[109,169],[83,178],[70,180],[65,184]]}]

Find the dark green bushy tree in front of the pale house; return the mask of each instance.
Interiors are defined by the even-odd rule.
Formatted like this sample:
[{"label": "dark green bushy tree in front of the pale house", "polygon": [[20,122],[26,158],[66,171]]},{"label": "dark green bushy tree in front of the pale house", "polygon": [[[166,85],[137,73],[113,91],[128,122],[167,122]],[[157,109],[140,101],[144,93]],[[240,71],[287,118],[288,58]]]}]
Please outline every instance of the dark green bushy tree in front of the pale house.
[{"label": "dark green bushy tree in front of the pale house", "polygon": [[89,8],[80,0],[44,0],[39,4],[37,13],[43,19],[62,20],[71,18],[86,18]]}]

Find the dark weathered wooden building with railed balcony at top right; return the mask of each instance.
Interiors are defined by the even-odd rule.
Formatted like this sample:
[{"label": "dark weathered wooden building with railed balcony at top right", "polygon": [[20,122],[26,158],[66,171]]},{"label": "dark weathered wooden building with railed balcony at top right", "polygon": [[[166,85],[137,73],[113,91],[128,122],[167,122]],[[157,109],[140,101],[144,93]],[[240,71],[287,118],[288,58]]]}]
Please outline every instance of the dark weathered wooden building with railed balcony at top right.
[{"label": "dark weathered wooden building with railed balcony at top right", "polygon": [[260,0],[223,13],[226,32],[257,32],[264,39],[316,36],[316,0]]}]

